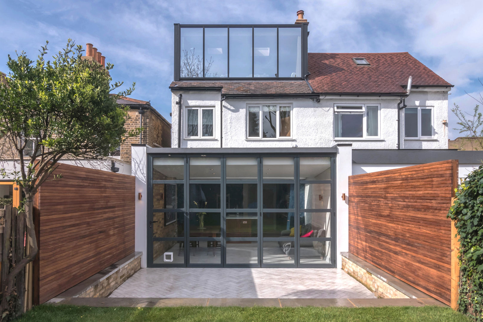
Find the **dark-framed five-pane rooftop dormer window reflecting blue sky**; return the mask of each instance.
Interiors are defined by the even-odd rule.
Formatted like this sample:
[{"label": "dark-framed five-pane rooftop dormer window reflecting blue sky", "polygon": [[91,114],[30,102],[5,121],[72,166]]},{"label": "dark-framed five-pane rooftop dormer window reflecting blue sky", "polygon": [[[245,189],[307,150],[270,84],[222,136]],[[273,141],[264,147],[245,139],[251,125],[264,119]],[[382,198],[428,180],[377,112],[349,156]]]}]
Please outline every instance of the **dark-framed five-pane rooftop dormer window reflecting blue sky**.
[{"label": "dark-framed five-pane rooftop dormer window reflecting blue sky", "polygon": [[179,67],[175,68],[180,78],[301,78],[304,28],[180,26],[175,29],[179,42]]}]

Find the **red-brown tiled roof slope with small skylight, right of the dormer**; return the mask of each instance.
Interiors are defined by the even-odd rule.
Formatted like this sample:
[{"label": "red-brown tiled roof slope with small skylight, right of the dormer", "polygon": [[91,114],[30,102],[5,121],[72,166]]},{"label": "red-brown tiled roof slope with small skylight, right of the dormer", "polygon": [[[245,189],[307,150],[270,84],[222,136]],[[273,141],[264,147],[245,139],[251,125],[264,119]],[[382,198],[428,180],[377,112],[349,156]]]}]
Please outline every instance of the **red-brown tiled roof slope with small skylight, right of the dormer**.
[{"label": "red-brown tiled roof slope with small skylight, right of the dormer", "polygon": [[409,53],[309,53],[309,72],[317,93],[403,93],[409,76],[412,86],[452,86]]}]

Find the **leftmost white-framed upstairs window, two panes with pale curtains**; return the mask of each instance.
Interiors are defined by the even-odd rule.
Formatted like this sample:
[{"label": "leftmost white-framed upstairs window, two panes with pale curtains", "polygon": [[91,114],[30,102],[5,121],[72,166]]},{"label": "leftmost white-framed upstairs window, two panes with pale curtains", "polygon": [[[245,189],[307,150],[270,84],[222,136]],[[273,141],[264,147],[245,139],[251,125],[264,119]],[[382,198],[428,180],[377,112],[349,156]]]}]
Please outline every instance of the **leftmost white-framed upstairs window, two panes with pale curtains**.
[{"label": "leftmost white-framed upstairs window, two panes with pale curtains", "polygon": [[214,138],[214,107],[187,107],[185,137],[187,139]]}]

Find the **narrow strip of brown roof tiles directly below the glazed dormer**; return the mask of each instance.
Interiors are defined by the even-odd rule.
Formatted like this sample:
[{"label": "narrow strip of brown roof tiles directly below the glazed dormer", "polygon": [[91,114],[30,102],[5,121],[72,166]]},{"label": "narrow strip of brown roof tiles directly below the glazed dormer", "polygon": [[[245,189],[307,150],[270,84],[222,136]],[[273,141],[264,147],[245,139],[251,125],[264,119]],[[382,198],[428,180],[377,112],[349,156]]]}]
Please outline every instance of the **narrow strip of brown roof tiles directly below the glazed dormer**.
[{"label": "narrow strip of brown roof tiles directly below the glazed dormer", "polygon": [[179,81],[172,82],[170,89],[213,88],[223,89],[222,94],[310,94],[307,83],[302,80],[279,81]]}]

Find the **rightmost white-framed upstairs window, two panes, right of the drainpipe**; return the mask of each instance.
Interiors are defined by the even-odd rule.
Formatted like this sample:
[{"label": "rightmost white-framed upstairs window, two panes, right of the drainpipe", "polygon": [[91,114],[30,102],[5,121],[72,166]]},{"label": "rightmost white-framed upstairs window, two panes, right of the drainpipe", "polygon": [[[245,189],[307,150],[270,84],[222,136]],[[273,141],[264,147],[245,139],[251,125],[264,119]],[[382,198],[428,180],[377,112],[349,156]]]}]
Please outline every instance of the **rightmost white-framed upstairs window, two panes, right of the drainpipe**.
[{"label": "rightmost white-framed upstairs window, two panes, right of the drainpipe", "polygon": [[404,109],[404,138],[427,139],[433,138],[433,108],[406,107]]}]

